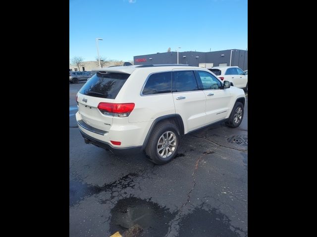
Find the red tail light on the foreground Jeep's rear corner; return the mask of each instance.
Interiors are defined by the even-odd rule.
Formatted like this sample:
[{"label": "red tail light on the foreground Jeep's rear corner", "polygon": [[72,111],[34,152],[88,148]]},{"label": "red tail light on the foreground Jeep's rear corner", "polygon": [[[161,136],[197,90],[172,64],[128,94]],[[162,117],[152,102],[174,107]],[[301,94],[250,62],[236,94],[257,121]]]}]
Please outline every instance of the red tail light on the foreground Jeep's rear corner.
[{"label": "red tail light on the foreground Jeep's rear corner", "polygon": [[98,109],[104,115],[110,115],[114,117],[128,117],[134,109],[134,103],[105,103],[101,102],[98,105]]}]

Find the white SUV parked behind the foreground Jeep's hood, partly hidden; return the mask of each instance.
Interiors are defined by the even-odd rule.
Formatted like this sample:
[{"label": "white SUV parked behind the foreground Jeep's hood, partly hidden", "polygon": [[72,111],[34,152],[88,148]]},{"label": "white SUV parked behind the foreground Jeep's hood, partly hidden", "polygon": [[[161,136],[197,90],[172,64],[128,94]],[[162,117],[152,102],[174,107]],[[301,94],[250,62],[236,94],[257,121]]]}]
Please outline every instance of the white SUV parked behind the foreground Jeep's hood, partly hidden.
[{"label": "white SUV parked behind the foreground Jeep's hood, partly hidden", "polygon": [[219,79],[228,80],[232,82],[233,86],[243,88],[245,92],[248,92],[248,72],[243,72],[238,66],[212,67],[209,70]]}]

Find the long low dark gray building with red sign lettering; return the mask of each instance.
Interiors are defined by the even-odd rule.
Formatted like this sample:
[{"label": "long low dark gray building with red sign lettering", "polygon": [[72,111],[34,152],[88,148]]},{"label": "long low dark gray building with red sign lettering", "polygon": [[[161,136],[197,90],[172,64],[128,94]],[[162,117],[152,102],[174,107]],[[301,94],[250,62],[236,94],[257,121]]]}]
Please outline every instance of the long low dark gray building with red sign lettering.
[{"label": "long low dark gray building with red sign lettering", "polygon": [[[213,52],[178,52],[178,63],[207,68],[230,66],[230,55],[231,66],[238,66],[242,70],[248,69],[248,51],[240,49],[228,49]],[[205,63],[207,63],[207,66],[204,66]],[[177,64],[177,52],[134,56],[134,65],[142,64]]]}]

